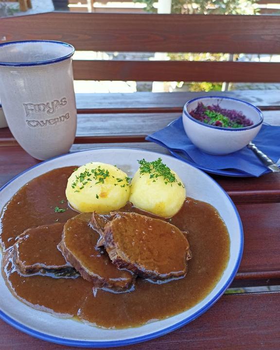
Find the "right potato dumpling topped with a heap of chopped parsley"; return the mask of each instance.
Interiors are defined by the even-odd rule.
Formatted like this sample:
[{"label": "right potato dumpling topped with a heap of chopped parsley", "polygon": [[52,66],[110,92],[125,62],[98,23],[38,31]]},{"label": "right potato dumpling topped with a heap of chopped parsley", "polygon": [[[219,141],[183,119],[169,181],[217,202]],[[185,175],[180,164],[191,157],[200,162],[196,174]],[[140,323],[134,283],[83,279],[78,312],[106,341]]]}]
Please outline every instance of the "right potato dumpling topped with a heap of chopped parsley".
[{"label": "right potato dumpling topped with a heap of chopped parsley", "polygon": [[139,161],[140,168],[131,181],[130,202],[137,208],[162,217],[171,217],[182,207],[186,190],[179,176],[161,159]]}]

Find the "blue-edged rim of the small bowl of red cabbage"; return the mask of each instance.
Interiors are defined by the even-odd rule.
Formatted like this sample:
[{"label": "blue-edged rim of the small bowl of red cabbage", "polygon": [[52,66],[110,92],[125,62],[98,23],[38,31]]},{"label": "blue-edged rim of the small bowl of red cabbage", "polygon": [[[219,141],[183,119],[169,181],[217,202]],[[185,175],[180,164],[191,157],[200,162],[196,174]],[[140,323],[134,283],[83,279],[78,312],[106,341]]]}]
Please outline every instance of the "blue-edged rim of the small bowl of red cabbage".
[{"label": "blue-edged rim of the small bowl of red cabbage", "polygon": [[[248,105],[249,107],[255,109],[259,116],[260,116],[260,121],[256,124],[250,125],[250,126],[245,126],[245,127],[241,127],[241,128],[227,128],[227,127],[221,127],[221,126],[216,126],[216,125],[210,125],[207,123],[203,123],[200,122],[199,120],[193,118],[190,113],[187,111],[187,106],[190,105],[192,102],[197,101],[197,100],[203,100],[203,99],[220,99],[220,100],[231,100],[231,101],[238,101],[241,102],[245,105]],[[185,115],[186,117],[188,117],[189,119],[191,119],[193,122],[204,125],[206,127],[210,127],[212,129],[216,129],[216,130],[226,130],[226,131],[245,131],[245,130],[250,130],[250,129],[254,129],[255,127],[259,126],[262,124],[263,122],[263,115],[262,115],[262,111],[256,107],[255,105],[250,104],[249,102],[243,101],[243,100],[239,100],[233,97],[227,97],[227,96],[201,96],[201,97],[196,97],[192,100],[189,100],[188,102],[185,103],[184,108],[183,108],[183,115]]]}]

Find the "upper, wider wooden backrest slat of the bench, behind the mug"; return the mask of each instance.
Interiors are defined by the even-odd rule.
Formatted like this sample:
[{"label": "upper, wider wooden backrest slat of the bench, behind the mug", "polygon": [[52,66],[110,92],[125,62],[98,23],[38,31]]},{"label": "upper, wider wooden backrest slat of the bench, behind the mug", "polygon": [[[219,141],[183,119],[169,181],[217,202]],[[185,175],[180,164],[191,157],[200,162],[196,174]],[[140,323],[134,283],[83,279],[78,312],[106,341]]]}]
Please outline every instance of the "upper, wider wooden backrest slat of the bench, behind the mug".
[{"label": "upper, wider wooden backrest slat of the bench, behind the mug", "polygon": [[278,53],[279,23],[277,16],[47,13],[2,18],[0,36],[61,40],[77,50]]}]

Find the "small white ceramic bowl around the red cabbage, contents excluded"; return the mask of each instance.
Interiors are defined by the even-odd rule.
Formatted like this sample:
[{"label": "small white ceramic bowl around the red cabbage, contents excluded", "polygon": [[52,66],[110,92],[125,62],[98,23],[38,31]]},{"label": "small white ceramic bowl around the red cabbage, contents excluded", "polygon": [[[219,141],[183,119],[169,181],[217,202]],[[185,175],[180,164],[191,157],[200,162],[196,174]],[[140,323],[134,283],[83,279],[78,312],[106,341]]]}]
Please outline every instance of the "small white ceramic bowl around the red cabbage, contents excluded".
[{"label": "small white ceramic bowl around the red cabbage, contents excluded", "polygon": [[[200,122],[190,115],[199,102],[204,105],[218,104],[222,108],[240,111],[253,122],[253,125],[233,129]],[[213,155],[227,155],[241,150],[256,137],[262,122],[263,116],[259,108],[230,97],[198,97],[188,101],[183,110],[183,124],[188,138],[197,148]]]}]

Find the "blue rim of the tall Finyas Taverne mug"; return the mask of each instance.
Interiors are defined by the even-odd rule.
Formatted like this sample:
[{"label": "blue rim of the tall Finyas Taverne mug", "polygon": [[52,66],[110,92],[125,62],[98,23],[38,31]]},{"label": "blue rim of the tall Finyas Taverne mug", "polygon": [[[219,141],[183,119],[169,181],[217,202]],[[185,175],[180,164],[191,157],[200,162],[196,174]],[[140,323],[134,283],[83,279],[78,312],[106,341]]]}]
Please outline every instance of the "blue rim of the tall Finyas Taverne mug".
[{"label": "blue rim of the tall Finyas Taverne mug", "polygon": [[39,42],[59,44],[59,45],[63,45],[65,47],[68,47],[68,48],[70,48],[72,50],[71,50],[70,53],[68,53],[66,55],[62,55],[60,57],[56,57],[56,58],[53,58],[53,59],[50,59],[50,60],[37,61],[37,62],[1,62],[0,61],[0,66],[5,66],[5,67],[43,66],[43,65],[47,65],[47,64],[51,64],[51,63],[64,61],[64,60],[72,57],[74,52],[75,52],[75,48],[72,45],[70,45],[68,43],[65,43],[63,41],[55,41],[55,40],[18,40],[18,41],[9,41],[9,42],[5,42],[5,43],[1,43],[0,44],[0,48],[2,46],[7,46],[7,45],[39,43]]}]

